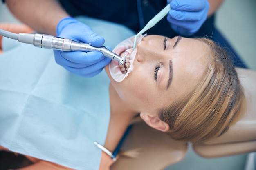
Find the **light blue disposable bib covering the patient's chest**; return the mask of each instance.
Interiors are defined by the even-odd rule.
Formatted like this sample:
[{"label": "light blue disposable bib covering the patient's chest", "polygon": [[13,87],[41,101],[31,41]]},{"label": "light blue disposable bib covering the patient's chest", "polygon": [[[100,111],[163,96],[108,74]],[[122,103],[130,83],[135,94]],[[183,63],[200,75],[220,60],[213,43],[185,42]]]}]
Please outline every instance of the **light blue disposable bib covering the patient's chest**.
[{"label": "light blue disposable bib covering the patient's chest", "polygon": [[110,119],[109,79],[83,78],[52,50],[19,44],[0,55],[0,145],[13,152],[97,170]]}]

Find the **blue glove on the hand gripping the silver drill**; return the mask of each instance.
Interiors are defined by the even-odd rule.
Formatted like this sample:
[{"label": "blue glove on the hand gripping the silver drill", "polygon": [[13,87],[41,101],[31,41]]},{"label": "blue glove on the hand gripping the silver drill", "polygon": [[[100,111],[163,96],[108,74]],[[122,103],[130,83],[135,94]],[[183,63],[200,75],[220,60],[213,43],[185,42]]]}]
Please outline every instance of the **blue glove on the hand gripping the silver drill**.
[{"label": "blue glove on the hand gripping the silver drill", "polygon": [[[105,40],[94,33],[89,26],[74,18],[63,18],[56,28],[58,37],[69,38],[78,42],[89,43],[92,46],[103,46]],[[98,51],[65,52],[54,50],[56,63],[68,71],[83,77],[93,77],[102,71],[111,59]]]}]

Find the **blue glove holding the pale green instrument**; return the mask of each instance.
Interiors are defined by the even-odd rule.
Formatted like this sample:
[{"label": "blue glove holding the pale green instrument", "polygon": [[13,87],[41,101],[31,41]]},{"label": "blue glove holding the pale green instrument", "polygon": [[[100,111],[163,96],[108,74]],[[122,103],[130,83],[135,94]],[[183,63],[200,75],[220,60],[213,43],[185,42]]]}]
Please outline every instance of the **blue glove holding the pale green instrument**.
[{"label": "blue glove holding the pale green instrument", "polygon": [[167,0],[171,10],[167,15],[171,28],[178,34],[189,36],[196,33],[207,19],[207,0]]}]

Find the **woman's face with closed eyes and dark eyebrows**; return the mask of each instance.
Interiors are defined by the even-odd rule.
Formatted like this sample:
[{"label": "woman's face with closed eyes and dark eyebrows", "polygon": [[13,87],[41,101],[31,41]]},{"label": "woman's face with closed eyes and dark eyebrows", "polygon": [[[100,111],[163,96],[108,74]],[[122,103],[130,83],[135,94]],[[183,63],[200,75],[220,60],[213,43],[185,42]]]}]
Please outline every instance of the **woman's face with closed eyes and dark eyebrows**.
[{"label": "woman's face with closed eyes and dark eyebrows", "polygon": [[122,82],[105,69],[121,99],[138,113],[156,113],[189,93],[207,66],[207,45],[199,40],[148,35],[136,48],[134,69]]}]

